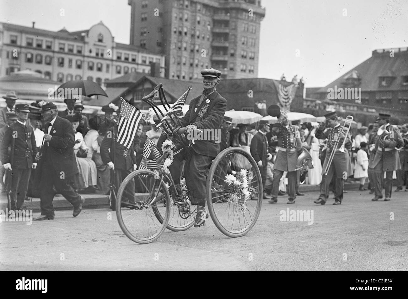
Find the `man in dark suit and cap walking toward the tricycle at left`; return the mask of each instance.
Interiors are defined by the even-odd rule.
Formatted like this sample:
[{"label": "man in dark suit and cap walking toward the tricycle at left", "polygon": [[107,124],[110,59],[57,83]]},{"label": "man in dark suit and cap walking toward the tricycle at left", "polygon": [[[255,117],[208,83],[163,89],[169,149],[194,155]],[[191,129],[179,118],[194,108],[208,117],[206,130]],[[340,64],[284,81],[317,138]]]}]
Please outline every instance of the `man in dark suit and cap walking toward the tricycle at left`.
[{"label": "man in dark suit and cap walking toward the tricycle at left", "polygon": [[72,215],[78,216],[85,199],[76,193],[71,183],[78,167],[75,160],[75,137],[71,123],[57,116],[57,106],[49,102],[42,106],[41,116],[45,124],[44,144],[37,154],[40,173],[41,215],[34,220],[54,219],[54,187],[74,207]]}]

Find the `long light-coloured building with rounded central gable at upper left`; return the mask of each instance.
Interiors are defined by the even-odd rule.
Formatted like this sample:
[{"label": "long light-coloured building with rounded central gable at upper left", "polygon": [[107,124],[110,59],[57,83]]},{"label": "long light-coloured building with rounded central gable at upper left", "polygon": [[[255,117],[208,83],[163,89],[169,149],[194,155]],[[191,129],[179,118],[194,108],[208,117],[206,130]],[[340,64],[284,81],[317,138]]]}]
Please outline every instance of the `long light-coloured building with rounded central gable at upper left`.
[{"label": "long light-coloured building with rounded central gable at upper left", "polygon": [[102,22],[75,32],[0,23],[0,76],[30,69],[58,82],[87,79],[102,85],[129,72],[164,77],[164,59],[115,42]]}]

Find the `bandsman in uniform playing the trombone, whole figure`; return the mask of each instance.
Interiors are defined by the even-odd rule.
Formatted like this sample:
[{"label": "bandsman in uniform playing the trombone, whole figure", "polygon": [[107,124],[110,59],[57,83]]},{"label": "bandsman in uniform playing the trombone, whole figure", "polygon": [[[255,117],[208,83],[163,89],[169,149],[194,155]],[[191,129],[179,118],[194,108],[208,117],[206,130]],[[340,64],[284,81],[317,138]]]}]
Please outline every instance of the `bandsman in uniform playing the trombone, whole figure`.
[{"label": "bandsman in uniform playing the trombone, whole figure", "polygon": [[[316,138],[318,139],[328,139],[328,146],[326,150],[326,158],[323,163],[322,170],[322,182],[320,184],[320,196],[317,200],[314,201],[316,204],[325,204],[328,198],[329,185],[333,176],[335,176],[335,202],[333,204],[341,204],[343,200],[343,177],[346,178],[353,174],[353,168],[351,166],[350,155],[347,150],[344,152],[339,151],[341,144],[346,138],[345,147],[351,145],[350,134],[345,136],[345,132],[342,132],[343,126],[337,121],[336,112],[330,112],[326,115],[326,124],[329,126],[324,130],[324,125],[320,125],[316,131]],[[334,154],[333,161],[328,169],[327,175],[324,174],[326,165],[328,163],[330,153],[333,151],[333,146],[336,140],[339,138],[339,143],[337,150]]]}]

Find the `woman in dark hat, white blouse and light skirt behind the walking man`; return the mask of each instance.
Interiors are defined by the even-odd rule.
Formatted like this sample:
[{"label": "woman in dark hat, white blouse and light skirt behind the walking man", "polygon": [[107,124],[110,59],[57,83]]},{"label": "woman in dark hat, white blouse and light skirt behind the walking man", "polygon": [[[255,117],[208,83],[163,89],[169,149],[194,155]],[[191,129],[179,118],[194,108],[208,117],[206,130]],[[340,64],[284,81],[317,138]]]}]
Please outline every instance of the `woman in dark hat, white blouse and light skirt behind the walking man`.
[{"label": "woman in dark hat, white blouse and light skirt behind the walking man", "polygon": [[[72,128],[75,132],[74,152],[79,171],[79,173],[75,176],[75,183],[78,190],[83,190],[89,186],[95,186],[97,184],[97,170],[95,162],[93,162],[91,158],[88,158],[89,147],[86,146],[82,133],[76,132],[80,122],[79,117],[80,114],[72,114],[67,115],[65,118],[71,122]],[[78,154],[78,152],[80,154]],[[78,157],[78,155],[80,155],[80,157]]]}]

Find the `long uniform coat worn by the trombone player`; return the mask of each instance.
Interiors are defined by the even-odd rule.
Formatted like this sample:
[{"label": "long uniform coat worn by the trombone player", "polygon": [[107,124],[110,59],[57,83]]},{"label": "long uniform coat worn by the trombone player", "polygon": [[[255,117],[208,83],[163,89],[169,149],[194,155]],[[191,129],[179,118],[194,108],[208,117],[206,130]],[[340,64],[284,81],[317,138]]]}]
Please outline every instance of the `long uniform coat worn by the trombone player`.
[{"label": "long uniform coat worn by the trombone player", "polygon": [[[335,128],[327,128],[326,130],[322,131],[320,128],[316,130],[316,138],[317,139],[328,139],[327,142],[327,150],[326,150],[326,158],[323,163],[322,172],[326,169],[326,165],[328,163],[330,153],[333,150],[333,146],[336,142],[337,137],[341,133],[342,125],[338,124]],[[342,178],[344,176],[344,172],[346,176],[353,175],[353,167],[351,166],[350,155],[348,154],[347,150],[340,152],[338,149],[341,147],[343,143],[343,139],[340,138],[339,145],[337,147],[337,151],[334,154],[333,161],[330,167],[335,167],[335,175],[337,178]],[[350,134],[346,137],[345,147],[351,145],[351,138]]]}]

